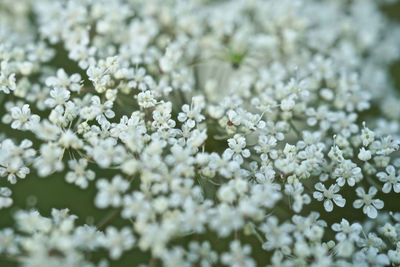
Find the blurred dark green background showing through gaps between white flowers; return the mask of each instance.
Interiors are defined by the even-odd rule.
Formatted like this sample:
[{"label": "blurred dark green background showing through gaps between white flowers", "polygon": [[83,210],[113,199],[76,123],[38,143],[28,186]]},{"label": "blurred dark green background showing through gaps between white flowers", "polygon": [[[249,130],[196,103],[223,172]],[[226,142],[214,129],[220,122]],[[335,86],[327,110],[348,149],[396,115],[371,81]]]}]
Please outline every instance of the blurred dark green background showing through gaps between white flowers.
[{"label": "blurred dark green background showing through gaps between white flowers", "polygon": [[[400,22],[400,3],[393,4],[391,6],[387,6],[384,8],[384,11],[390,16],[393,20],[397,20]],[[400,44],[399,44],[400,45]],[[76,72],[77,66],[73,62],[66,62],[64,59],[66,55],[63,54],[65,51],[62,51],[62,48],[58,48],[59,53],[58,56],[54,59],[54,65],[57,67],[63,67],[67,72]],[[396,87],[399,89],[400,93],[400,62],[393,64],[390,69]],[[82,77],[85,77],[85,74],[82,73]],[[3,107],[0,108],[0,114],[4,114]],[[24,137],[28,137],[26,133],[21,133],[18,131],[12,131],[9,126],[0,123],[0,134],[5,134],[7,137],[15,138],[16,140],[22,140]],[[32,135],[29,135],[28,138],[33,138]],[[34,140],[34,139],[31,139]],[[39,144],[34,143],[36,148],[39,147]],[[95,168],[91,168],[96,171],[96,178],[111,178],[115,173],[112,171],[104,171],[104,170],[96,170]],[[93,199],[96,194],[95,183],[91,182],[89,189],[81,190],[75,185],[68,184],[64,180],[65,171],[61,173],[52,174],[48,178],[39,178],[35,175],[34,171],[30,175],[27,176],[26,179],[19,179],[17,184],[9,186],[6,179],[0,179],[0,186],[9,186],[13,191],[13,199],[15,201],[14,205],[9,209],[0,210],[0,228],[10,227],[13,225],[12,215],[18,209],[29,209],[36,208],[40,211],[40,213],[44,216],[50,216],[51,209],[63,209],[69,208],[71,213],[76,214],[78,216],[77,224],[91,224],[98,225],[101,221],[109,216],[112,213],[112,209],[99,210],[96,209],[93,203]],[[346,194],[346,193],[345,193]],[[347,197],[346,197],[347,198]],[[349,201],[350,199],[348,199]],[[350,203],[350,202],[348,202]],[[392,210],[399,210],[397,206],[397,202],[394,201],[385,201],[385,204],[388,203],[386,208],[392,208]],[[391,207],[390,207],[391,206]],[[313,207],[308,207],[307,210],[311,210]],[[304,211],[303,214],[307,214],[307,210]],[[352,210],[353,212],[353,210]],[[346,209],[335,210],[329,214],[330,220],[339,221],[344,215],[347,218],[361,218],[362,214],[345,214]],[[322,218],[326,218],[327,214],[322,214]],[[112,219],[112,225],[122,226],[126,225],[126,222],[118,219],[118,216]],[[106,226],[106,225],[104,225]],[[209,236],[210,239],[214,239],[215,242],[213,244],[218,244],[217,246],[223,246],[222,242],[218,242],[218,240],[214,236]],[[189,239],[189,238],[186,238]],[[182,240],[184,241],[184,240]],[[254,238],[249,240],[251,243],[256,242]],[[258,243],[257,243],[258,244]],[[259,245],[258,245],[259,247]],[[255,253],[255,257],[259,260],[265,262],[267,254],[265,251],[261,249],[257,249],[256,246],[253,246],[253,251]],[[93,255],[95,259],[99,259],[105,256],[105,253],[99,252],[96,255]],[[112,262],[111,266],[137,266],[139,263],[146,263],[147,259],[149,259],[148,253],[140,252],[138,249],[135,249],[132,252],[125,253],[125,256],[122,257],[117,262]],[[157,265],[157,264],[156,264]],[[17,266],[16,263],[6,261],[3,258],[0,258],[0,267],[3,266]]]}]

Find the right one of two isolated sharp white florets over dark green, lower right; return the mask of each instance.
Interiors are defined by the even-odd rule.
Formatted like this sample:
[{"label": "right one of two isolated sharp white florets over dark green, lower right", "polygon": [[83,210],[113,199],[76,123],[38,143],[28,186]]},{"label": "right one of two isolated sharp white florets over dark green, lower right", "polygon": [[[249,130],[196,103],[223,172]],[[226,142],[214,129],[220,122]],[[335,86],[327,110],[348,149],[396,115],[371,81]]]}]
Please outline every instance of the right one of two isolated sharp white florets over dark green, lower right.
[{"label": "right one of two isolated sharp white florets over dark green, lower right", "polygon": [[384,205],[382,200],[373,199],[377,192],[378,190],[375,187],[370,187],[367,194],[364,188],[358,187],[356,193],[360,199],[353,202],[353,207],[356,209],[363,207],[364,214],[368,215],[368,217],[372,219],[376,218],[378,215],[377,209],[382,209]]}]

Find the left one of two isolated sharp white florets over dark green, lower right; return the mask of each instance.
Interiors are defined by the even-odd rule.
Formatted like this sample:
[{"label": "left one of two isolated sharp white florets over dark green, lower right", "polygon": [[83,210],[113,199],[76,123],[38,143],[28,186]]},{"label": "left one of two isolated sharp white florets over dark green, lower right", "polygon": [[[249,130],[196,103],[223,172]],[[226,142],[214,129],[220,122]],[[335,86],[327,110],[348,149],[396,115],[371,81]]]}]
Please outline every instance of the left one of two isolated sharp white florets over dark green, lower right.
[{"label": "left one of two isolated sharp white florets over dark green, lower right", "polygon": [[339,207],[344,207],[346,204],[346,199],[344,199],[341,195],[336,194],[340,190],[340,187],[337,184],[333,184],[329,187],[329,189],[326,189],[325,185],[322,183],[317,183],[315,184],[315,189],[318,191],[314,192],[313,197],[318,201],[323,201],[325,199],[324,208],[327,212],[331,212],[333,210],[333,202]]}]

